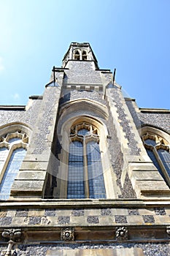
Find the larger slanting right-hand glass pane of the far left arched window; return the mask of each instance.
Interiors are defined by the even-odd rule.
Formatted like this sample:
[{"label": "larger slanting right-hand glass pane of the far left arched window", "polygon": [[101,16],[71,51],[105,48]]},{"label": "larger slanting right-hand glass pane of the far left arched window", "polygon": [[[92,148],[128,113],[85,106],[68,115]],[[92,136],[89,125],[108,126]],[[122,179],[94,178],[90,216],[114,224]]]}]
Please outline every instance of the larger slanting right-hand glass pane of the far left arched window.
[{"label": "larger slanting right-hand glass pane of the far left arched window", "polygon": [[12,156],[0,184],[0,200],[7,200],[9,198],[12,183],[18,174],[18,170],[20,169],[25,155],[25,148],[16,148],[12,152]]}]

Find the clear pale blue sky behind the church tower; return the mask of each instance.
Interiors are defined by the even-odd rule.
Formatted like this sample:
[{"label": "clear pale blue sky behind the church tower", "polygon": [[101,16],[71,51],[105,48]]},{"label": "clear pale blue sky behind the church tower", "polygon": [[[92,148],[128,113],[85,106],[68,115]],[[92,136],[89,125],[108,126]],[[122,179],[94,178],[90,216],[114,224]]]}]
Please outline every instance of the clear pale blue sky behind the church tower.
[{"label": "clear pale blue sky behind the church tower", "polygon": [[0,105],[41,95],[71,42],[90,42],[140,108],[170,108],[169,0],[0,0]]}]

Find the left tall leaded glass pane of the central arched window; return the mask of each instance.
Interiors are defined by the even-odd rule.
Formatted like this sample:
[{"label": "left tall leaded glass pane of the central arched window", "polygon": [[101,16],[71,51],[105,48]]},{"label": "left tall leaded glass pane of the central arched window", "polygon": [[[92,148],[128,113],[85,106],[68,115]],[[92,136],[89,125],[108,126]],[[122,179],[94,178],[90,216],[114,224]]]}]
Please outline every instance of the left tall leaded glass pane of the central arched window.
[{"label": "left tall leaded glass pane of the central arched window", "polygon": [[69,146],[67,198],[85,198],[83,147],[80,141],[73,141]]}]

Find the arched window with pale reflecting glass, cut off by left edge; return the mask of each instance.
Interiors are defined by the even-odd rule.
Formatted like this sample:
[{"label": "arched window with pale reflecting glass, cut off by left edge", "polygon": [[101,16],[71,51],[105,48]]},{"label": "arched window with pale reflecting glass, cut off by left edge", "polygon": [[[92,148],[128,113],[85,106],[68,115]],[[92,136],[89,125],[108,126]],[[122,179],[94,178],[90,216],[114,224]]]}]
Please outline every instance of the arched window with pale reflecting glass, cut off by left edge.
[{"label": "arched window with pale reflecting glass, cut off by left edge", "polygon": [[23,158],[26,155],[28,136],[13,132],[1,136],[0,142],[0,200],[7,200]]}]

